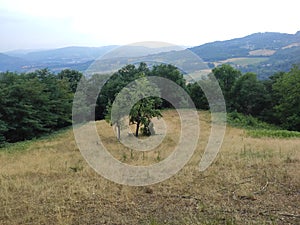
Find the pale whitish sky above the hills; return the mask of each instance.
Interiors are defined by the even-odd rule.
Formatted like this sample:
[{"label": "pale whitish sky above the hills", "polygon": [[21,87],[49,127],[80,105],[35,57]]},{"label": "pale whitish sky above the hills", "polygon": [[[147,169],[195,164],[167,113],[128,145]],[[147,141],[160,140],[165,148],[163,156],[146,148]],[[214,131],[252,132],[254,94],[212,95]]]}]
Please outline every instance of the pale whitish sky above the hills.
[{"label": "pale whitish sky above the hills", "polygon": [[144,41],[197,46],[298,30],[295,0],[0,0],[0,52]]}]

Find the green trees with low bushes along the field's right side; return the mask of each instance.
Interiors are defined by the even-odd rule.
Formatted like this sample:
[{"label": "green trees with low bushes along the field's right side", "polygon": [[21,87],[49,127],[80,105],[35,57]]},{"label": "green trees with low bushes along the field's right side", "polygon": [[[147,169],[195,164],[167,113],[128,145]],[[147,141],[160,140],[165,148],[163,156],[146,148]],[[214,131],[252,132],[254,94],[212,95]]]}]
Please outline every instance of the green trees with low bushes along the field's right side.
[{"label": "green trees with low bushes along the field's right side", "polygon": [[[223,91],[228,111],[255,116],[283,129],[300,131],[299,67],[294,66],[288,73],[278,72],[265,81],[258,80],[254,73],[240,76],[240,72],[230,65],[217,67],[213,73]],[[201,90],[193,90],[196,87],[192,84],[188,87],[197,107],[201,108]],[[245,119],[237,115],[229,115],[229,121],[243,127],[260,124],[253,117]]]}]

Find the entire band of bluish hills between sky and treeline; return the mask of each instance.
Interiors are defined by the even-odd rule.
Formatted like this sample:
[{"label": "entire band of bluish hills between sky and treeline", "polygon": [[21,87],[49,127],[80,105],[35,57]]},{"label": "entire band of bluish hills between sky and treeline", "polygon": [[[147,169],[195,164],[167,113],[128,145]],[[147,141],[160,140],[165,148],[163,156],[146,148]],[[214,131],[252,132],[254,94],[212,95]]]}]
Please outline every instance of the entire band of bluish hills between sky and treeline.
[{"label": "entire band of bluish hills between sky and treeline", "polygon": [[[147,48],[143,46],[66,47],[41,51],[14,51],[0,54],[0,71],[28,72],[49,68],[60,71],[65,68],[85,71],[100,56],[108,64],[126,64],[138,60],[167,57],[180,61],[184,51],[174,47]],[[113,51],[110,55],[109,52]],[[254,33],[242,38],[215,41],[188,48],[213,68],[229,63],[242,72],[255,72],[264,79],[278,71],[287,71],[293,64],[300,64],[300,31],[296,34],[276,32]],[[111,59],[110,58],[114,58]],[[188,61],[188,60],[187,60]],[[116,66],[118,66],[117,64]],[[103,65],[105,67],[105,65]]]}]

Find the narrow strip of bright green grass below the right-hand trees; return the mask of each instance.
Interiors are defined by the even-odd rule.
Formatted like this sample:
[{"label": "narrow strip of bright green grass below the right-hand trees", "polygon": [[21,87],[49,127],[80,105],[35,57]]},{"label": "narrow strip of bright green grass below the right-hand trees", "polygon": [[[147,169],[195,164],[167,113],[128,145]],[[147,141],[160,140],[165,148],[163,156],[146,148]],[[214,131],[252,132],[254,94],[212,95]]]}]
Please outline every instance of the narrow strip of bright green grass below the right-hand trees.
[{"label": "narrow strip of bright green grass below the right-hand trees", "polygon": [[300,132],[288,130],[247,130],[247,135],[254,138],[271,137],[271,138],[300,138]]}]

